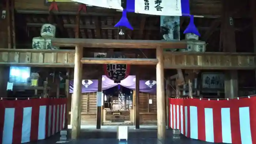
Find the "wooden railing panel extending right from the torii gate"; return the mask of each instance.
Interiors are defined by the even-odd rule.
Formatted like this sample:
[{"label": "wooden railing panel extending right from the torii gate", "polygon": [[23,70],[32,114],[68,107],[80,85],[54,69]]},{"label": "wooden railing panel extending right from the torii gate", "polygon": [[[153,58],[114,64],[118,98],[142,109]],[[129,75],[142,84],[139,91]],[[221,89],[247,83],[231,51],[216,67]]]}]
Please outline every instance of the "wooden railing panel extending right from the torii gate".
[{"label": "wooden railing panel extending right from the torii gate", "polygon": [[165,69],[256,69],[256,53],[165,52]]}]

